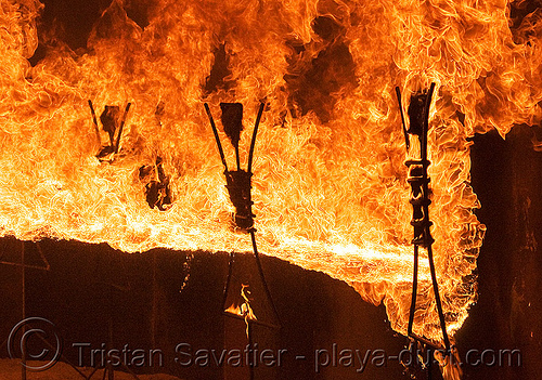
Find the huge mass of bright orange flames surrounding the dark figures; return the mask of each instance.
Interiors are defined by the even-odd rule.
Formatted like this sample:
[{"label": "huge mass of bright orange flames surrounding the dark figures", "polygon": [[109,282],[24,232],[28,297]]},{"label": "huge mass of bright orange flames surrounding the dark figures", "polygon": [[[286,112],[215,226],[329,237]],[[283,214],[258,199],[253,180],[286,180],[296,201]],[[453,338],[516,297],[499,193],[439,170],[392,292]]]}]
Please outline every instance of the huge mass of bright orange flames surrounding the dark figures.
[{"label": "huge mass of bright orange flames surrounding the dark figures", "polygon": [[[511,31],[507,4],[496,0],[160,0],[143,28],[125,6],[113,1],[85,51],[40,36],[48,53],[30,67],[42,6],[1,1],[1,235],[106,241],[126,252],[249,251],[247,236],[229,226],[203,102],[217,115],[220,102],[243,103],[250,130],[263,101],[253,196],[261,251],[385,302],[404,331],[412,228],[393,88],[408,94],[435,81],[433,235],[450,333],[461,327],[485,231],[473,214],[466,139],[540,121],[540,12]],[[99,116],[132,103],[112,163],[96,159],[88,100]],[[150,208],[140,175],[158,157],[172,198],[166,211]],[[439,340],[421,262],[415,332]]]}]

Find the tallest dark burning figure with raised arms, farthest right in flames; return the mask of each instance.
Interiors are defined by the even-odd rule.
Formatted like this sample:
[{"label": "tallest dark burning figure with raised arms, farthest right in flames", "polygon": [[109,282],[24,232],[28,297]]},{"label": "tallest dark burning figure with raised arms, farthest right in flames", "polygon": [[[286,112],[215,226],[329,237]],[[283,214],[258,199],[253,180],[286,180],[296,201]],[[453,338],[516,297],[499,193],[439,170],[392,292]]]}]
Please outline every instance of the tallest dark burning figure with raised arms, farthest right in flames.
[{"label": "tallest dark burning figure with raised arms, farthest right in flames", "polygon": [[413,208],[411,224],[414,227],[414,238],[412,239],[412,244],[414,245],[414,273],[412,280],[412,300],[409,315],[408,335],[409,337],[424,344],[440,349],[428,339],[420,337],[412,331],[414,325],[414,314],[416,311],[418,252],[420,247],[423,247],[427,250],[433,289],[435,292],[435,301],[439,314],[440,328],[442,330],[442,340],[444,342],[446,352],[447,354],[449,354],[450,340],[448,338],[446,328],[444,313],[442,311],[442,302],[440,299],[435,271],[435,262],[433,258],[433,243],[435,241],[435,239],[433,238],[430,233],[430,226],[433,225],[433,222],[429,220],[429,205],[431,204],[431,200],[429,199],[430,179],[427,174],[427,168],[430,165],[429,160],[427,159],[427,132],[429,130],[429,107],[431,104],[434,91],[435,83],[431,83],[428,91],[421,91],[411,95],[408,109],[410,123],[409,128],[406,128],[406,126],[404,125],[403,109],[401,105],[401,93],[399,91],[399,88],[396,88],[399,104],[401,107],[401,119],[403,121],[403,131],[408,149],[410,148],[409,135],[417,137],[420,141],[420,157],[405,161],[405,165],[409,167],[409,176],[406,181],[411,186],[410,202]]}]

